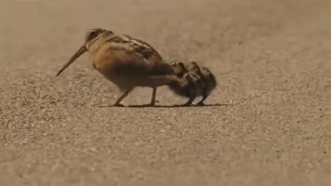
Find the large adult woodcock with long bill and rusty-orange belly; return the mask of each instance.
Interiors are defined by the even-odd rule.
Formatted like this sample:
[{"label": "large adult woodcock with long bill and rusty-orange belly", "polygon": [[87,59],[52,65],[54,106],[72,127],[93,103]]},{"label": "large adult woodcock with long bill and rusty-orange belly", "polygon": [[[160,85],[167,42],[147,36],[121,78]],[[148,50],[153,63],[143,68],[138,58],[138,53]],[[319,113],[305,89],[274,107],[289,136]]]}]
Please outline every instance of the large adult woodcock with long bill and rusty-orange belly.
[{"label": "large adult woodcock with long bill and rusty-orange belly", "polygon": [[86,32],[85,42],[57,72],[57,76],[82,54],[88,52],[88,59],[94,70],[114,83],[121,96],[113,106],[123,107],[123,101],[135,87],[152,88],[150,103],[156,102],[157,87],[181,85],[183,81],[174,74],[170,63],[146,41],[117,34],[105,28],[92,28]]}]

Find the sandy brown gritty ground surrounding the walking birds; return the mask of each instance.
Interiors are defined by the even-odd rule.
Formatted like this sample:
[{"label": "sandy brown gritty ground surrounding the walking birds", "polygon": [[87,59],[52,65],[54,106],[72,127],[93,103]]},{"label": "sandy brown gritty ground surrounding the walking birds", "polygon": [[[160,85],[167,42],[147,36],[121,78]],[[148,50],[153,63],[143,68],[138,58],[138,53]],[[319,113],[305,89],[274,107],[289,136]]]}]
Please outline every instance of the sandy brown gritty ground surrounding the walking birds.
[{"label": "sandy brown gritty ground surrounding the walking birds", "polygon": [[[328,0],[1,1],[0,185],[330,184],[330,17]],[[119,92],[87,55],[55,77],[93,27],[200,61],[205,103],[229,105],[99,107]]]}]

